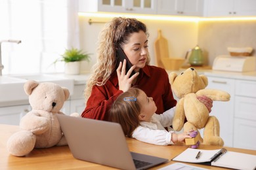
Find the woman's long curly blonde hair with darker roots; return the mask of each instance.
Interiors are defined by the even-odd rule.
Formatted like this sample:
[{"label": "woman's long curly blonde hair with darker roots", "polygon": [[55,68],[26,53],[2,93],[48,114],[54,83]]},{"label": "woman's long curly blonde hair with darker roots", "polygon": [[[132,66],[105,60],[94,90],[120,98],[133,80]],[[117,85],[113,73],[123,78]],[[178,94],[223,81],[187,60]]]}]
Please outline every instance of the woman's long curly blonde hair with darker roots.
[{"label": "woman's long curly blonde hair with darker roots", "polygon": [[[116,71],[116,49],[127,43],[131,33],[144,31],[148,36],[146,25],[135,18],[114,18],[102,29],[98,37],[97,62],[93,66],[91,77],[85,87],[85,98],[91,95],[94,85],[103,86]],[[147,63],[150,57],[147,56]]]}]

